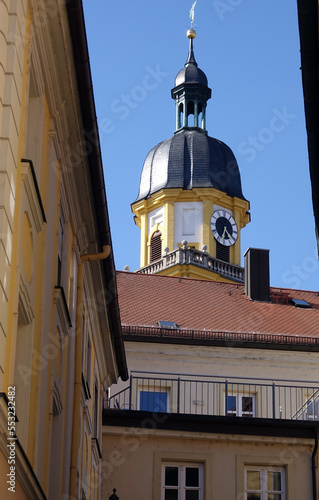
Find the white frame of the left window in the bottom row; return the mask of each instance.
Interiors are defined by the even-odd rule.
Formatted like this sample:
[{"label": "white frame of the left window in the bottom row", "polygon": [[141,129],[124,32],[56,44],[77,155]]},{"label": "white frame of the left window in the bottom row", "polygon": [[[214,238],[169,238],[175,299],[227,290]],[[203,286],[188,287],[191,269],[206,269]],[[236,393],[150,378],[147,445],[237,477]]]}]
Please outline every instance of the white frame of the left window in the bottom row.
[{"label": "white frame of the left window in the bottom row", "polygon": [[[177,467],[178,468],[178,486],[165,485],[165,468],[166,467]],[[186,487],[186,468],[198,468],[199,471],[199,486]],[[195,490],[199,492],[198,500],[204,500],[204,465],[203,463],[197,462],[163,462],[162,463],[162,474],[161,474],[161,500],[165,500],[166,489],[174,489],[178,491],[178,500],[185,500],[186,491]]]}]

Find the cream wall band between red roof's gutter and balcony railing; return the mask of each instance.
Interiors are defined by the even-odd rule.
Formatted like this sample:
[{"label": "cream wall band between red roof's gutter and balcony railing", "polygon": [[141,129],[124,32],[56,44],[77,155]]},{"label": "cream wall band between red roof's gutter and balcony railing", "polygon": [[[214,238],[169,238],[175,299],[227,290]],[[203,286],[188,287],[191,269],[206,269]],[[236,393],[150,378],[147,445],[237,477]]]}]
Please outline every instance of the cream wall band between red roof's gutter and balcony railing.
[{"label": "cream wall band between red roof's gutter and balcony railing", "polygon": [[[295,381],[319,380],[319,353],[125,342],[130,371],[218,375]],[[116,391],[123,383],[119,383]]]}]

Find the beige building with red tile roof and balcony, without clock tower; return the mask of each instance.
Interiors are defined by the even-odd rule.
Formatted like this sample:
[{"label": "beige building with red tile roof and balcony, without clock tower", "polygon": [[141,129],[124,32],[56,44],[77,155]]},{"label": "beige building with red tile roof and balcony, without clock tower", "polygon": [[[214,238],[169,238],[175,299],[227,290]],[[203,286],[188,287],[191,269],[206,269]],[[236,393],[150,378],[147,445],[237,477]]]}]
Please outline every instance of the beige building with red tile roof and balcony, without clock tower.
[{"label": "beige building with red tile roof and balcony, without clock tower", "polygon": [[318,294],[125,272],[118,290],[130,380],[104,402],[104,496],[317,498]]}]

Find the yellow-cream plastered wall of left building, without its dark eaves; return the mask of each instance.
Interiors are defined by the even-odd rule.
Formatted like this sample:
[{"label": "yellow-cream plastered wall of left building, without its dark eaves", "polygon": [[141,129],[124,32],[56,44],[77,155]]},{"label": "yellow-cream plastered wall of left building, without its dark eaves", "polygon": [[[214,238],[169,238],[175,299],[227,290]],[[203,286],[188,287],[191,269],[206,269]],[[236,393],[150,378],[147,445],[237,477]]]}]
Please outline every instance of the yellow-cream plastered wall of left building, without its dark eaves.
[{"label": "yellow-cream plastered wall of left building, without its dark eaves", "polygon": [[[58,55],[56,46],[63,47]],[[77,150],[83,142],[83,121],[72,50],[65,2],[0,0],[0,392],[7,393],[9,385],[16,385],[17,436],[49,499],[69,496],[70,469],[75,470],[75,477],[79,471],[80,487],[88,484],[86,498],[99,498],[99,486],[95,486],[95,497],[90,494],[91,470],[97,477],[100,467],[92,441],[94,378],[99,413],[102,393],[118,378],[107,297],[101,294],[104,269],[88,262],[84,298],[86,321],[91,325],[91,399],[82,388],[82,399],[74,407],[75,344],[82,320],[82,304],[76,310],[78,266],[80,254],[98,252],[97,243],[90,242],[99,238],[95,221],[84,220],[93,213],[94,203],[91,192],[85,191],[90,183],[87,157],[82,158]],[[34,163],[46,222],[30,166],[21,158]],[[87,200],[85,208],[82,197]],[[56,288],[61,211],[61,284],[67,307]],[[84,360],[79,365],[82,372]],[[79,435],[72,433],[73,415],[81,419]],[[5,441],[7,420],[2,416],[0,436]],[[100,419],[98,426],[101,446]],[[82,477],[84,435],[87,473]],[[8,450],[2,444],[0,475],[6,477]],[[71,464],[71,447],[78,444],[80,452]],[[23,489],[26,498],[40,498],[22,454],[18,472],[17,497],[24,498]],[[6,493],[0,496],[6,498]]]}]

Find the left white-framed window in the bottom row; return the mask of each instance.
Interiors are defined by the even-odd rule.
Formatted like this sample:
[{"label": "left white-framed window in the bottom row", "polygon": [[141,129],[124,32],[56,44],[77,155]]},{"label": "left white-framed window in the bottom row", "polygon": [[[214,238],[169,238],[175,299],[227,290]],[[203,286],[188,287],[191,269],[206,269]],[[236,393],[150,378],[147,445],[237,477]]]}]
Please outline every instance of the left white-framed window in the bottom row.
[{"label": "left white-framed window in the bottom row", "polygon": [[161,500],[203,500],[203,465],[164,463]]}]

